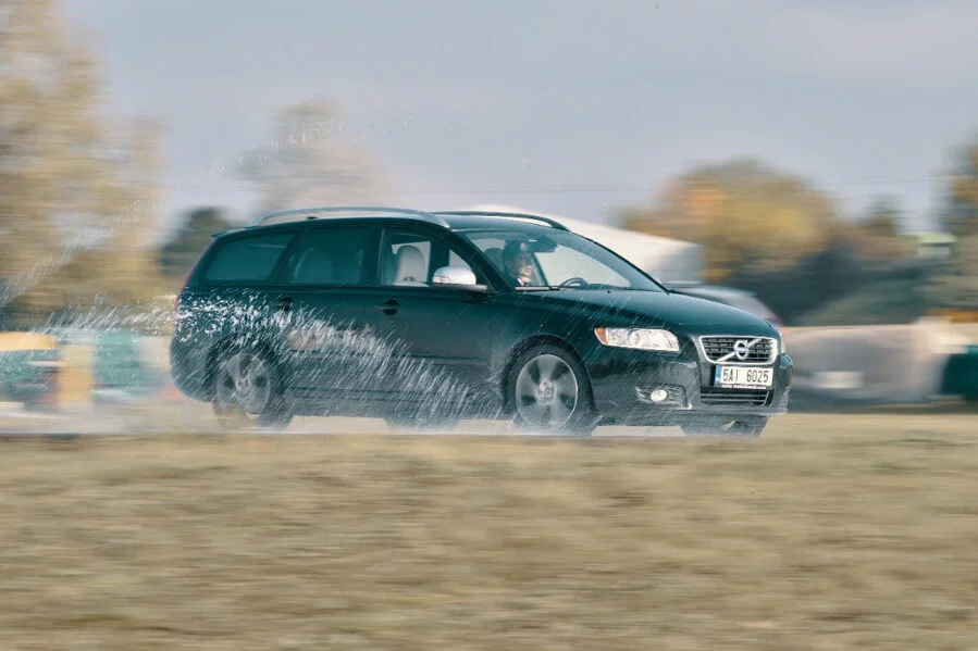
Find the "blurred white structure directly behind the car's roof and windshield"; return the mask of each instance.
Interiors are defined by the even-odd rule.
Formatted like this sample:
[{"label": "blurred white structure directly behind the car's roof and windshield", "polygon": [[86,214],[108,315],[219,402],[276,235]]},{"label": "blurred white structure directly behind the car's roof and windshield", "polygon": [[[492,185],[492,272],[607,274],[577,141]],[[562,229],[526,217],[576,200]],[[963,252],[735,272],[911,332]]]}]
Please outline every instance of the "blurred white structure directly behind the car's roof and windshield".
[{"label": "blurred white structure directly behind the car's roof and windshield", "polygon": [[698,283],[703,279],[704,250],[700,245],[667,237],[616,228],[595,222],[570,220],[516,205],[481,204],[458,210],[482,210],[537,214],[556,220],[569,229],[608,247],[635,266],[665,283]]}]

